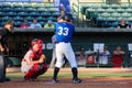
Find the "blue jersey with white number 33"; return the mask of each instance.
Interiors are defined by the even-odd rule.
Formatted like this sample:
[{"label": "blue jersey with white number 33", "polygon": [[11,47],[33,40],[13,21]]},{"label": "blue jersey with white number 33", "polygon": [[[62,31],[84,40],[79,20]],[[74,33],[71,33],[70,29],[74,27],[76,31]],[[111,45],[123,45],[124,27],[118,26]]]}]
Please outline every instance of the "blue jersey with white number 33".
[{"label": "blue jersey with white number 33", "polygon": [[55,33],[57,42],[70,42],[75,26],[66,22],[55,23]]}]

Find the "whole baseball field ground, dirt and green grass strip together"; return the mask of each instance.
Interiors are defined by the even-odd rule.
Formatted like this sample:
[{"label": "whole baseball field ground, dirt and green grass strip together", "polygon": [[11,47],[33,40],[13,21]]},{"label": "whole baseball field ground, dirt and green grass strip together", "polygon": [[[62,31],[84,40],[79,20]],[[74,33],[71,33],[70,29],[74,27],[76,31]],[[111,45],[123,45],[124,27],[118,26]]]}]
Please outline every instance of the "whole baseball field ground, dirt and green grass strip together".
[{"label": "whole baseball field ground, dirt and green grass strip together", "polygon": [[81,84],[73,84],[70,68],[62,68],[58,84],[52,82],[53,68],[38,77],[38,81],[24,81],[20,69],[8,69],[11,81],[0,88],[132,88],[132,68],[78,68]]}]

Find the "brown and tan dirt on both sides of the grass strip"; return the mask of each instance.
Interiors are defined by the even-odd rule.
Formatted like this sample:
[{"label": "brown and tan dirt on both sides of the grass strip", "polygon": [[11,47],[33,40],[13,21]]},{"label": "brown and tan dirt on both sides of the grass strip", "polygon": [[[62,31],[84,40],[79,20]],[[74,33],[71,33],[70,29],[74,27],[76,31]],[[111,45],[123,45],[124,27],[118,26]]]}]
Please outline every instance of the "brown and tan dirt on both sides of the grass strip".
[{"label": "brown and tan dirt on both sides of the grass strip", "polygon": [[[52,75],[53,69],[48,69],[46,74]],[[70,69],[62,69],[61,74],[69,74]],[[92,73],[132,73],[131,69],[79,69],[79,74]],[[16,75],[21,73],[8,73]],[[45,74],[45,75],[46,75]],[[59,77],[59,75],[58,75]],[[81,84],[73,84],[72,77],[59,77],[58,84],[53,84],[52,76],[40,77],[38,81],[23,81],[21,77],[12,77],[11,81],[0,84],[0,88],[132,88],[132,77],[80,77]]]}]

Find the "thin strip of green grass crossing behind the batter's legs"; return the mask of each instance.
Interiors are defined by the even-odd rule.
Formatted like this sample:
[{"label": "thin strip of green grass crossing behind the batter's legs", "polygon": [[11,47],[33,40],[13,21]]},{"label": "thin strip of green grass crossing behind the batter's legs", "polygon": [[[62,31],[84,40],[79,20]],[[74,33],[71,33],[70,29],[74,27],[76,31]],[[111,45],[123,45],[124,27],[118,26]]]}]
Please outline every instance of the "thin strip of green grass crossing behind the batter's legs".
[{"label": "thin strip of green grass crossing behind the batter's legs", "polygon": [[[23,77],[24,75],[22,74],[8,74],[7,75],[8,77],[10,78],[21,78]],[[44,75],[41,75],[41,77],[52,77],[53,74],[44,74]],[[69,74],[58,74],[59,77],[73,77],[73,75],[69,73]],[[102,74],[102,73],[99,73],[99,74],[95,74],[95,73],[90,73],[90,74],[79,74],[79,77],[132,77],[132,73],[110,73],[110,74]]]}]

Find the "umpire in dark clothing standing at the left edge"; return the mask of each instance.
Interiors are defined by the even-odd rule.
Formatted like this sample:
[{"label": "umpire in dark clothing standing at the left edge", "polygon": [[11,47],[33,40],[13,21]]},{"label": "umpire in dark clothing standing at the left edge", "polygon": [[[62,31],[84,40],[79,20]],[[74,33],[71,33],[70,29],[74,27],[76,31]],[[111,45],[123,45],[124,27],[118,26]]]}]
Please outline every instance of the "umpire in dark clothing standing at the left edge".
[{"label": "umpire in dark clothing standing at the left edge", "polygon": [[7,59],[6,52],[9,52],[7,47],[7,36],[13,31],[13,21],[7,21],[4,26],[0,30],[0,82],[10,81],[6,77]]}]

